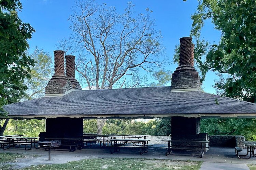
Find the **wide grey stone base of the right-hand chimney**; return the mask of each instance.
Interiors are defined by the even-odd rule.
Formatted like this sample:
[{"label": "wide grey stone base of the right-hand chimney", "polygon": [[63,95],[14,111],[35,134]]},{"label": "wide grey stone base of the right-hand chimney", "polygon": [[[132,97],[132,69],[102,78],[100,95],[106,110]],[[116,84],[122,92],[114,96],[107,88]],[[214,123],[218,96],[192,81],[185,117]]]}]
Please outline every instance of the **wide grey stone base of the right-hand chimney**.
[{"label": "wide grey stone base of the right-hand chimney", "polygon": [[171,91],[197,91],[200,85],[200,77],[193,66],[179,66],[172,74]]}]

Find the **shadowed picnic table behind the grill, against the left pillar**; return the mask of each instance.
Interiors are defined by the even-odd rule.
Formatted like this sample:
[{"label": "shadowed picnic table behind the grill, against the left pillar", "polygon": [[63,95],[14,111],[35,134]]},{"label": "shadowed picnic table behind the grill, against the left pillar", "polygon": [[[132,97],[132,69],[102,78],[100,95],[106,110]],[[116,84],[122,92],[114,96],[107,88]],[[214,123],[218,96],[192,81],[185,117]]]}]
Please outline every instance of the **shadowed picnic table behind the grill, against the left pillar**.
[{"label": "shadowed picnic table behind the grill, against the left pillar", "polygon": [[83,145],[83,138],[45,138],[49,140],[60,140],[60,146],[69,146],[69,151],[81,150]]}]

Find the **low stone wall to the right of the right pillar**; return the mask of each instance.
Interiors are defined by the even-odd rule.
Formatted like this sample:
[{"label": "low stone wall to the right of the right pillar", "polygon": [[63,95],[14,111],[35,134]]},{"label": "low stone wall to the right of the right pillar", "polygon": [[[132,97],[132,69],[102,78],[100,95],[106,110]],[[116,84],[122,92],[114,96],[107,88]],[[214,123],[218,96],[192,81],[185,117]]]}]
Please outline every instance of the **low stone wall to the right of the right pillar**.
[{"label": "low stone wall to the right of the right pillar", "polygon": [[209,146],[211,147],[242,147],[244,148],[245,141],[244,136],[223,136],[223,135],[210,135],[209,136]]}]

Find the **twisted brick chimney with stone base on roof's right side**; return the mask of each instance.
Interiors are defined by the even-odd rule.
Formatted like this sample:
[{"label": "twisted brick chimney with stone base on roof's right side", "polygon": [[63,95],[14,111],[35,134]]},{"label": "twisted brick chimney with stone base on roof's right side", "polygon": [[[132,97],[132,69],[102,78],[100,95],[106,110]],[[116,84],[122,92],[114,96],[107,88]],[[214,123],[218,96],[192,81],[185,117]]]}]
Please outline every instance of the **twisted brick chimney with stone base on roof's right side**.
[{"label": "twisted brick chimney with stone base on roof's right side", "polygon": [[172,74],[171,91],[197,91],[200,89],[200,77],[194,68],[192,38],[180,38],[180,43],[180,63]]}]

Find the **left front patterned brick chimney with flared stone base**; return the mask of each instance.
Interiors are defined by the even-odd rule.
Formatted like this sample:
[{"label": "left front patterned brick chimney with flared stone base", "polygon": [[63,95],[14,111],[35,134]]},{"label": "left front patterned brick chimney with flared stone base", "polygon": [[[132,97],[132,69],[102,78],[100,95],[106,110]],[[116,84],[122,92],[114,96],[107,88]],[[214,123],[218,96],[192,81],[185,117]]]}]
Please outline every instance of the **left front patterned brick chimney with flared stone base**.
[{"label": "left front patterned brick chimney with flared stone base", "polygon": [[72,91],[72,84],[64,73],[64,51],[54,51],[54,75],[45,87],[45,96],[63,96]]}]

